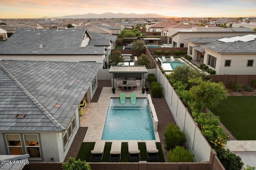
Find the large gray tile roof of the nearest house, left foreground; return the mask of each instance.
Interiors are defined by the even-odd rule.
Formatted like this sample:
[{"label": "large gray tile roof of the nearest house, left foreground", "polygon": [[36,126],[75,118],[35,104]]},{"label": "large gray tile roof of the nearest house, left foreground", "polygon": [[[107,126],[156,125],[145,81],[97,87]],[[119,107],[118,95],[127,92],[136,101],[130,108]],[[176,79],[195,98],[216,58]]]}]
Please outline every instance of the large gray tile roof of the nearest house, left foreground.
[{"label": "large gray tile roof of the nearest house, left foreground", "polygon": [[[101,63],[0,61],[0,130],[62,131]],[[79,79],[80,81],[76,81]],[[54,108],[56,103],[62,104]],[[26,118],[14,118],[17,114]]]}]

